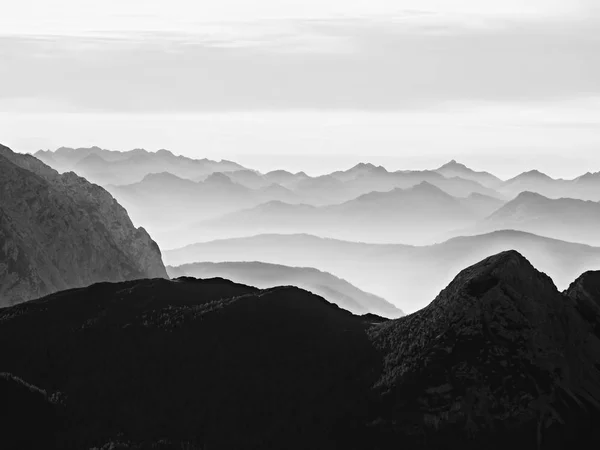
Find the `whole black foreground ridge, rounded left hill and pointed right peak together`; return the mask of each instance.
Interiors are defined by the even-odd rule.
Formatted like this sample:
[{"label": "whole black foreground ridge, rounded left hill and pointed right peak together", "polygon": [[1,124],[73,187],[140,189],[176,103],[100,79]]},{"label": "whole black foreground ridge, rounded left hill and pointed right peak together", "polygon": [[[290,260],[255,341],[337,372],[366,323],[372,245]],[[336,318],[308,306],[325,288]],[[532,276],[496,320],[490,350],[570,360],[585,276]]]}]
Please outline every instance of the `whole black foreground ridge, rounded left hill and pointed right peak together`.
[{"label": "whole black foreground ridge, rounded left hill and pointed right peak together", "polygon": [[56,417],[43,448],[600,445],[599,337],[513,251],[392,321],[297,288],[152,279],[0,310],[0,340],[0,372],[45,391],[32,427]]}]

